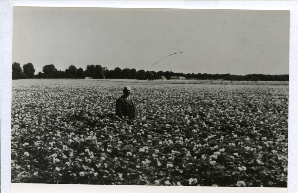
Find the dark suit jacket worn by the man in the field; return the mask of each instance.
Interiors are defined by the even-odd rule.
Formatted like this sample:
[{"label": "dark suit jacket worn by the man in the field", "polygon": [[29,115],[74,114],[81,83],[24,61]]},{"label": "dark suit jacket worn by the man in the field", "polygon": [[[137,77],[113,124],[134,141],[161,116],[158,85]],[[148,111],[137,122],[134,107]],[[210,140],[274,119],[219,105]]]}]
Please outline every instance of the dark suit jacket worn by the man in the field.
[{"label": "dark suit jacket worn by the man in the field", "polygon": [[128,117],[128,118],[135,118],[138,115],[136,110],[136,103],[132,96],[131,101],[128,101],[124,95],[116,101],[116,114],[118,117]]}]

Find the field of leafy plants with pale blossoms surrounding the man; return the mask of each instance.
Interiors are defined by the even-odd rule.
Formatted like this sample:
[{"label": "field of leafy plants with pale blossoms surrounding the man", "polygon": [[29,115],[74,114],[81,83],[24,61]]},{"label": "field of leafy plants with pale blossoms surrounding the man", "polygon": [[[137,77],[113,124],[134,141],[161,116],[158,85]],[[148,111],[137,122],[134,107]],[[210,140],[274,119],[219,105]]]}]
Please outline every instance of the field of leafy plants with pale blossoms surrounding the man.
[{"label": "field of leafy plants with pale blossoms surrounding the man", "polygon": [[287,187],[288,86],[12,84],[12,183]]}]

